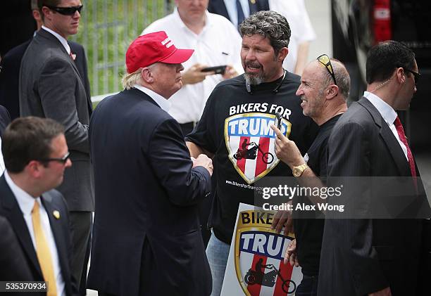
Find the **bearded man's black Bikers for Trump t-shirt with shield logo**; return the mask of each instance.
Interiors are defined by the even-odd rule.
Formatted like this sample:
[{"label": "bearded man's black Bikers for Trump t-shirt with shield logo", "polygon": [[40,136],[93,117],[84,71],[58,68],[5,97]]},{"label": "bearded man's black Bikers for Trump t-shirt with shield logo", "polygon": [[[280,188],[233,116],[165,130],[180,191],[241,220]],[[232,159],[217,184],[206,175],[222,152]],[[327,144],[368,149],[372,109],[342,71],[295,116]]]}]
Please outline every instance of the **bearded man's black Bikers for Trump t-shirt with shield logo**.
[{"label": "bearded man's black Bikers for Trump t-shirt with shield logo", "polygon": [[299,76],[289,72],[284,79],[252,86],[251,93],[243,75],[220,82],[186,137],[215,155],[217,187],[209,223],[225,243],[232,240],[239,202],[254,204],[254,182],[263,176],[292,176],[274,153],[270,124],[275,113],[281,112],[282,131],[301,153],[316,136],[317,125],[302,114],[301,100],[295,95],[298,86]]}]

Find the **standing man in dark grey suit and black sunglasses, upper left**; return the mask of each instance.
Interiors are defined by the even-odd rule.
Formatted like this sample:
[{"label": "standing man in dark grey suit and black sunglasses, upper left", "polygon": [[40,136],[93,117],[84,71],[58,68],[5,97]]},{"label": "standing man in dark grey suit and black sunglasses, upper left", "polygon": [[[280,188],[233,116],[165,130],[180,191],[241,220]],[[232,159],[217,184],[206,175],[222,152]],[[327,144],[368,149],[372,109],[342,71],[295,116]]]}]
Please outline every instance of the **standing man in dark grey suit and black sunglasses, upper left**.
[{"label": "standing man in dark grey suit and black sunglasses, upper left", "polygon": [[87,266],[85,252],[94,211],[94,184],[89,161],[89,94],[73,61],[67,38],[76,34],[80,0],[39,0],[44,25],[25,51],[20,68],[20,115],[52,118],[65,127],[74,165],[58,187],[70,211],[75,278]]}]

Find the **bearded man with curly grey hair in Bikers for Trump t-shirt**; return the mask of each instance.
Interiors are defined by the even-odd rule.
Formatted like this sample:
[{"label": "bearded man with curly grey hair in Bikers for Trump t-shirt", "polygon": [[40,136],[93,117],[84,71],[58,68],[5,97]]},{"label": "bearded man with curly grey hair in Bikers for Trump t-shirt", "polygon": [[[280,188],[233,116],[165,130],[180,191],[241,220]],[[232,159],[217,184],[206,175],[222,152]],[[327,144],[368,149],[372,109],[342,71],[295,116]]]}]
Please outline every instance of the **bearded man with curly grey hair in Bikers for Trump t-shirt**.
[{"label": "bearded man with curly grey hair in Bikers for Trump t-shirt", "polygon": [[[217,168],[209,222],[213,234],[206,248],[211,295],[220,295],[239,202],[254,204],[254,182],[263,176],[292,176],[274,153],[270,125],[275,113],[282,115],[282,134],[294,139],[303,153],[317,130],[295,95],[299,76],[282,68],[290,37],[287,20],[274,11],[260,11],[246,18],[240,30],[244,75],[215,86],[199,124],[186,137],[190,154],[214,156]],[[244,153],[242,143],[253,151]]]}]

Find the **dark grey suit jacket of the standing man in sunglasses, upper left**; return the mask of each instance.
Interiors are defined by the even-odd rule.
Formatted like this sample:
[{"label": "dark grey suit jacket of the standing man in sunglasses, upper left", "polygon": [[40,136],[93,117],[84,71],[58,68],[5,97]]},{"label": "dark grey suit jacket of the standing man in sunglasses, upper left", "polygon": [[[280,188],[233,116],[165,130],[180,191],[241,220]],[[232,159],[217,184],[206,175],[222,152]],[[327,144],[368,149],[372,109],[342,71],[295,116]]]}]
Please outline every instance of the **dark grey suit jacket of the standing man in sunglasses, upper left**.
[{"label": "dark grey suit jacket of the standing man in sunglasses, upper left", "polygon": [[20,68],[20,115],[52,118],[65,126],[73,166],[58,187],[70,211],[94,211],[94,185],[89,162],[89,94],[77,65],[63,45],[39,30],[27,47]]}]

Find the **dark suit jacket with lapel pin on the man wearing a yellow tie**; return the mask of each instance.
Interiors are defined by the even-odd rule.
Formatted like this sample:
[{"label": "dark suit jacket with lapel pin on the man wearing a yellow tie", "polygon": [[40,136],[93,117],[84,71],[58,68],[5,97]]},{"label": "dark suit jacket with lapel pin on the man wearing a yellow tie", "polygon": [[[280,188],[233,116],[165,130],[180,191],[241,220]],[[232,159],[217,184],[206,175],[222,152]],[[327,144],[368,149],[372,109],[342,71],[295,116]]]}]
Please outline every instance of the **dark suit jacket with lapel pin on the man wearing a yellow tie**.
[{"label": "dark suit jacket with lapel pin on the man wearing a yellow tie", "polygon": [[[66,295],[76,295],[77,288],[75,279],[70,274],[70,259],[72,258],[72,243],[69,234],[68,208],[65,200],[56,190],[47,191],[41,196],[42,204],[45,207],[49,217],[49,224],[54,233],[54,240],[58,251],[58,260],[61,266],[61,274],[65,282]],[[55,219],[51,214],[54,210],[60,212],[60,219]],[[23,218],[23,212],[6,183],[4,175],[0,177],[0,214],[4,216],[11,224],[15,236],[18,238],[20,249],[24,253],[25,262],[30,268],[32,280],[43,281],[42,269],[37,260],[35,247],[30,237],[27,224]]]}]

